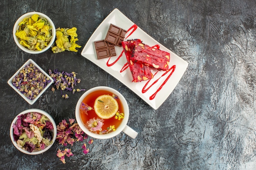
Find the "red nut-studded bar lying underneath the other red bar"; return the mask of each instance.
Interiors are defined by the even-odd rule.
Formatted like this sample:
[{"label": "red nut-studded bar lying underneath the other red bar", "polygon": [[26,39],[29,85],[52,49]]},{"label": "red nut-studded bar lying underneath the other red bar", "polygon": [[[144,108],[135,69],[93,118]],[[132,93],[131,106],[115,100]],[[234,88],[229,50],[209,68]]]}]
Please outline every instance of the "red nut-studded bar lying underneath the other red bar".
[{"label": "red nut-studded bar lying underneath the other red bar", "polygon": [[141,82],[143,80],[152,79],[153,74],[150,71],[150,67],[141,63],[132,62],[132,60],[130,60],[130,56],[132,55],[132,49],[134,48],[136,41],[141,42],[141,40],[123,41],[122,46],[124,49],[124,53],[126,55],[128,66],[132,73],[132,79],[133,79],[132,81]]}]

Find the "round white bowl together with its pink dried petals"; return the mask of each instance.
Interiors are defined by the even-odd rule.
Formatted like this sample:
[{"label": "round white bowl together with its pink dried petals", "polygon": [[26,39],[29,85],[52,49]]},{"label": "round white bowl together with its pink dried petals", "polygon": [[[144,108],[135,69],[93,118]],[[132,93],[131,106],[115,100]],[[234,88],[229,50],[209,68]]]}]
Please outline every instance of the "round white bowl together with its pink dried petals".
[{"label": "round white bowl together with its pink dried petals", "polygon": [[13,145],[28,155],[38,155],[54,144],[57,127],[49,113],[40,109],[28,109],[13,119],[10,137]]}]

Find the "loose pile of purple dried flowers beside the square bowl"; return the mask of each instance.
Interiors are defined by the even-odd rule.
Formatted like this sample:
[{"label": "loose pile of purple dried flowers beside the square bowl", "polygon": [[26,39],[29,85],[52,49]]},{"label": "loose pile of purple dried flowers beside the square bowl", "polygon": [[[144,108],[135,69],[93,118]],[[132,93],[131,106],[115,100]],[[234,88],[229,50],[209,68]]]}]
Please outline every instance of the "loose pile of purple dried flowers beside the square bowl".
[{"label": "loose pile of purple dried flowers beside the square bowl", "polygon": [[[81,79],[76,78],[77,73],[74,71],[72,73],[67,72],[59,72],[57,69],[55,69],[53,72],[51,69],[49,69],[49,75],[54,80],[54,85],[56,89],[61,90],[61,96],[62,98],[68,99],[69,95],[63,94],[64,91],[72,91],[74,94],[76,91],[81,92],[85,91],[85,89],[77,88],[75,89],[74,86],[79,84],[81,82]],[[52,87],[52,91],[55,91],[55,88]]]}]

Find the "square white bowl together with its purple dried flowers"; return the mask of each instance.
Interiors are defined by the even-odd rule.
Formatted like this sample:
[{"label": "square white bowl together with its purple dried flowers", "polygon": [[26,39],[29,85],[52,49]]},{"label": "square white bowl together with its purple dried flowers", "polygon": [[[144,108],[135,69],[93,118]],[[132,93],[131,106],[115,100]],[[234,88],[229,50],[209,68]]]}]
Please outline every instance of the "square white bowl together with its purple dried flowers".
[{"label": "square white bowl together with its purple dried flowers", "polygon": [[52,77],[31,59],[8,80],[8,84],[31,105],[53,82]]}]

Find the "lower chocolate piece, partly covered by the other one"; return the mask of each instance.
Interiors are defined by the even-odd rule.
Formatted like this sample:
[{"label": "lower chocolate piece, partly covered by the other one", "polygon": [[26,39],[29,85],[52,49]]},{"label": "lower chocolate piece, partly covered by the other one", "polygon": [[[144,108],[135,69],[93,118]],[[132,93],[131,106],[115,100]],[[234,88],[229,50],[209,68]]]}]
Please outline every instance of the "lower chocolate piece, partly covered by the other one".
[{"label": "lower chocolate piece, partly covered by the other one", "polygon": [[105,40],[95,41],[94,46],[97,54],[97,59],[112,57],[117,55],[114,44],[110,44]]}]

